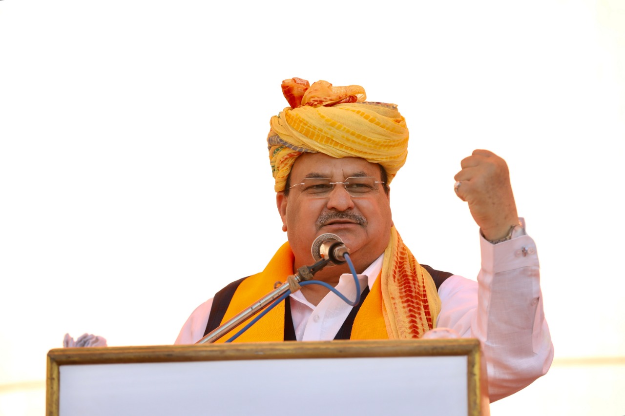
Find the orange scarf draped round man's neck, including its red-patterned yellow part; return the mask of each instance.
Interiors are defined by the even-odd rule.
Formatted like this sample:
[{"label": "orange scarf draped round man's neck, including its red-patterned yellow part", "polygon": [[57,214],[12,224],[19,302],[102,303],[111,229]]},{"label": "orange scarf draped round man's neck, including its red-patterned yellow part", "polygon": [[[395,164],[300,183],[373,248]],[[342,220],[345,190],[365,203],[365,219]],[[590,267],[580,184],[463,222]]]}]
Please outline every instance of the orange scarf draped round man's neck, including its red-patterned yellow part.
[{"label": "orange scarf draped round man's neck, including its red-patterned yellow part", "polygon": [[[222,323],[271,292],[276,281],[284,282],[293,272],[293,260],[291,247],[286,242],[261,273],[247,277],[237,287]],[[382,270],[354,319],[351,339],[419,338],[435,327],[440,309],[441,300],[434,280],[392,227]],[[217,343],[225,342],[245,324],[247,322]],[[283,339],[284,302],[281,302],[234,342],[279,342]]]}]

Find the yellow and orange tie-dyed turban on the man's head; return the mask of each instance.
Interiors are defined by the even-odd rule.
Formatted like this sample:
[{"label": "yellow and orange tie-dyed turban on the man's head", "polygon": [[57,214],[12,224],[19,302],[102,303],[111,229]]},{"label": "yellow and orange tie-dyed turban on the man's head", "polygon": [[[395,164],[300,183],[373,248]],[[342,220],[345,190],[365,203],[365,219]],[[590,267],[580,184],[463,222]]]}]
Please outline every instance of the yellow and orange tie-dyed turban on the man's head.
[{"label": "yellow and orange tie-dyed turban on the man's head", "polygon": [[284,191],[297,156],[321,152],[332,157],[362,157],[384,167],[391,183],[406,162],[408,128],[395,104],[367,102],[364,88],[309,85],[300,78],[282,81],[291,107],[271,117],[267,136],[276,192]]}]

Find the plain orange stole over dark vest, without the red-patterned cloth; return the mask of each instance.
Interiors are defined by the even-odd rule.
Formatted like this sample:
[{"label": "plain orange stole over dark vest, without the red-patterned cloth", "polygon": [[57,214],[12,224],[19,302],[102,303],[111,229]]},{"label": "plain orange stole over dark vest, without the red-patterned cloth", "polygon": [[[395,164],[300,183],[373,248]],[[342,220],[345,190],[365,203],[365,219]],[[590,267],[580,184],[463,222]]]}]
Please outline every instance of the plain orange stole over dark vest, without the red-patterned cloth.
[{"label": "plain orange stole over dark vest, without the red-patterned cloth", "polygon": [[[244,309],[247,309],[264,295],[274,289],[276,282],[284,282],[288,275],[293,274],[293,254],[288,242],[280,247],[274,257],[272,257],[267,267],[258,274],[244,279],[237,287],[228,305],[226,314],[222,319],[223,324]],[[380,276],[367,295],[367,299],[362,302],[362,306],[354,319],[351,339],[388,339],[386,324],[382,315],[382,289]],[[231,330],[216,344],[226,342],[232,335],[236,334],[247,322],[248,319],[236,329]],[[284,302],[280,302],[274,309],[258,320],[241,336],[233,342],[280,342],[284,340]]]}]

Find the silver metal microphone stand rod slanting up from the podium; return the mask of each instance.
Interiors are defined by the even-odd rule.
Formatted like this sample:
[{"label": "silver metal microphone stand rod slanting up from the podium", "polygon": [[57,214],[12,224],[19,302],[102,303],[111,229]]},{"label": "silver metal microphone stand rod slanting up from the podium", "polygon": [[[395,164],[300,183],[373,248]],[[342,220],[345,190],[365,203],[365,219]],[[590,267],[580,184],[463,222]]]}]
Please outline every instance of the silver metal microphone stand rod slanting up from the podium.
[{"label": "silver metal microphone stand rod slanting up from the podium", "polygon": [[[297,281],[297,283],[311,280],[312,276],[319,270],[323,269],[323,267],[329,261],[329,258],[321,259],[311,266],[300,267],[299,269],[297,269],[297,274],[294,275],[295,280]],[[289,290],[289,284],[287,284],[287,282],[282,283],[276,289],[272,290],[264,297],[254,302],[252,305],[242,310],[238,314],[234,315],[234,317],[219,325],[219,327],[215,328],[208,334],[204,335],[204,337],[201,340],[197,341],[196,344],[206,344],[207,342],[210,344],[212,342],[215,342],[216,340],[220,339],[228,332],[230,332],[232,329],[242,324],[242,322],[245,322],[247,319],[261,312],[261,310],[265,309],[267,305],[271,304],[271,302],[281,297],[287,290]]]}]

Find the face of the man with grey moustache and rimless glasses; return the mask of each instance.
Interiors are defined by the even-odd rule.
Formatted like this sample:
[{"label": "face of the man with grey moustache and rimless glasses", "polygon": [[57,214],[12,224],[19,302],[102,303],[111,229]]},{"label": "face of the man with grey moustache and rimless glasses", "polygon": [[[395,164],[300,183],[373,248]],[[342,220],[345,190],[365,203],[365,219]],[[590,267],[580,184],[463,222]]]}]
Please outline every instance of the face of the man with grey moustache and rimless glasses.
[{"label": "face of the man with grey moustache and rimless glasses", "polygon": [[[381,181],[380,167],[359,157],[336,159],[322,153],[297,157],[291,169],[291,186],[307,177],[327,177],[345,182],[348,177],[371,176]],[[336,234],[349,249],[357,272],[362,272],[384,252],[391,236],[391,206],[381,184],[366,196],[352,197],[337,184],[327,197],[316,198],[295,186],[277,194],[282,229],[287,232],[295,254],[294,268],[314,263],[311,245],[327,232]]]}]

